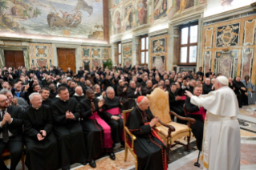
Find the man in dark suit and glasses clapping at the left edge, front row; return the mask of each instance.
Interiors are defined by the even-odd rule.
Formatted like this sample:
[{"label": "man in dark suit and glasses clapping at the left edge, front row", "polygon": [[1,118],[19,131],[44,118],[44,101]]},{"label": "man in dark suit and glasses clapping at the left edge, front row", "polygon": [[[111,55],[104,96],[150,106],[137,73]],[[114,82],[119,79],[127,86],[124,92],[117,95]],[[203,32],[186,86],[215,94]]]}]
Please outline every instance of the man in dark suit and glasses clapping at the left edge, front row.
[{"label": "man in dark suit and glasses clapping at the left edge, front row", "polygon": [[[10,152],[10,170],[15,170],[22,157],[22,109],[10,106],[6,95],[0,95],[0,155],[7,148]],[[8,170],[3,160],[0,169]]]}]

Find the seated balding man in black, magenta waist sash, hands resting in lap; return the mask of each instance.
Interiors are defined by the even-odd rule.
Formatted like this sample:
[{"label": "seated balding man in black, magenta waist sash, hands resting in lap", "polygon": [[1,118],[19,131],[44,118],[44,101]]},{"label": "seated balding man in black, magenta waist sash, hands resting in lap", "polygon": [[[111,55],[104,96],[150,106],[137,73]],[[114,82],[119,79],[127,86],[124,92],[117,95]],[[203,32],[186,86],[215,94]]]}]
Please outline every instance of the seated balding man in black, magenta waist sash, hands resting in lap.
[{"label": "seated balding man in black, magenta waist sash, hands resting in lap", "polygon": [[111,136],[115,149],[121,147],[122,132],[123,132],[123,116],[120,114],[120,99],[115,96],[115,91],[112,87],[106,90],[107,97],[104,98],[103,119],[111,127]]}]

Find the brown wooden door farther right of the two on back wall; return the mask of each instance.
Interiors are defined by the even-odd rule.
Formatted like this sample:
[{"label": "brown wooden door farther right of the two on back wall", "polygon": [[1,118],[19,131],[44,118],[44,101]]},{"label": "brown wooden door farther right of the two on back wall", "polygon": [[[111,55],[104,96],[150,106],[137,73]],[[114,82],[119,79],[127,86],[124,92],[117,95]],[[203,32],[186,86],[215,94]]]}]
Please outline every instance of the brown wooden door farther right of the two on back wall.
[{"label": "brown wooden door farther right of the two on back wall", "polygon": [[75,73],[75,49],[58,48],[57,52],[59,67],[61,67],[64,72],[67,71],[68,67],[71,67],[71,70]]}]

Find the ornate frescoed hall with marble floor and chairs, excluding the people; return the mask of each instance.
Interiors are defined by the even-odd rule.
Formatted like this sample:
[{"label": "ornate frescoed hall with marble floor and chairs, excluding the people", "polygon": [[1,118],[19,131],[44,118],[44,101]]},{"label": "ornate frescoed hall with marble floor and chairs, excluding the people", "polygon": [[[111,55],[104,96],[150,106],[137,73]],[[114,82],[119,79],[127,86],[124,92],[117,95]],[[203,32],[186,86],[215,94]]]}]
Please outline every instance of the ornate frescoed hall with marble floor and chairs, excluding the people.
[{"label": "ornate frescoed hall with marble floor and chairs, excluding the people", "polygon": [[[118,68],[117,71],[140,66],[148,67],[148,79],[152,78],[150,71],[163,75],[160,79],[165,79],[164,75],[169,71],[168,79],[177,79],[178,74],[183,76],[182,73],[185,72],[191,74],[189,79],[195,79],[197,84],[205,85],[206,78],[214,83],[218,74],[221,74],[226,76],[230,83],[236,83],[238,78],[243,82],[246,76],[249,76],[249,82],[255,85],[255,31],[256,0],[0,0],[0,68],[2,72],[4,67],[26,67],[26,71],[35,67],[49,71],[50,76],[52,69],[59,67],[64,73],[69,72],[71,79],[77,83],[76,79],[81,81],[81,77],[76,76],[83,69],[89,74],[100,67],[109,68],[110,71],[112,68]],[[104,69],[101,72],[104,72]],[[172,73],[174,74],[171,75]],[[129,74],[132,72],[128,71]],[[144,75],[136,74],[142,83],[148,80],[144,80]],[[128,75],[124,74],[123,78],[126,80]],[[196,78],[193,75],[196,75]],[[105,81],[108,79],[108,75],[99,76]],[[184,83],[185,79],[183,82],[182,79],[181,82],[177,80],[177,88],[181,88],[178,87],[179,83]],[[133,78],[130,77],[129,80]],[[156,83],[153,80],[156,80],[156,77],[152,78],[152,84],[159,85],[159,80],[156,80]],[[56,87],[58,83],[55,84]],[[117,87],[120,82],[117,81],[115,84]],[[187,115],[189,111],[182,105],[181,111],[185,113],[182,116],[185,118],[180,119],[181,115],[174,111],[172,104],[169,103],[171,84],[170,82],[169,85],[159,85],[157,88],[153,86],[153,91],[149,93],[141,89],[141,95],[148,97],[152,115],[162,120],[162,123],[157,123],[154,127],[154,132],[159,134],[167,147],[166,160],[169,170],[203,169],[204,162],[199,159],[197,163],[198,142],[197,136],[191,130],[193,119]],[[86,86],[84,87],[87,88]],[[148,82],[144,83],[144,86],[147,87]],[[246,87],[246,95],[251,99],[249,102],[246,101],[246,105],[243,105],[244,98],[238,96],[239,91],[235,90],[235,84],[231,88],[236,93],[239,103],[240,169],[255,170],[255,87]],[[100,90],[106,89],[105,84],[100,85]],[[75,88],[74,94],[78,93],[76,90]],[[82,93],[87,95],[85,91]],[[184,94],[181,100],[186,99],[182,97],[185,97]],[[108,152],[104,152],[95,159],[96,168],[91,168],[90,164],[86,163],[75,163],[71,164],[71,169],[137,168],[137,153],[132,148],[136,137],[133,138],[132,131],[125,126],[131,112],[125,110],[132,107],[125,109],[122,99],[124,98],[120,97],[120,117],[124,119],[124,128],[122,127],[120,137],[125,142],[121,142],[121,147],[114,148],[116,160],[111,159]],[[128,100],[130,102],[131,98]],[[132,102],[135,103],[135,100]],[[101,107],[97,109],[100,112]],[[79,121],[81,119],[79,118]],[[172,131],[169,125],[175,127],[175,131]],[[0,142],[1,140],[3,137],[0,135]],[[115,141],[113,142],[115,144]],[[136,143],[136,140],[134,142]],[[28,169],[23,164],[28,157],[25,154],[26,147],[22,149],[24,154],[17,170]],[[10,154],[3,153],[1,159],[7,168],[10,168]]]}]

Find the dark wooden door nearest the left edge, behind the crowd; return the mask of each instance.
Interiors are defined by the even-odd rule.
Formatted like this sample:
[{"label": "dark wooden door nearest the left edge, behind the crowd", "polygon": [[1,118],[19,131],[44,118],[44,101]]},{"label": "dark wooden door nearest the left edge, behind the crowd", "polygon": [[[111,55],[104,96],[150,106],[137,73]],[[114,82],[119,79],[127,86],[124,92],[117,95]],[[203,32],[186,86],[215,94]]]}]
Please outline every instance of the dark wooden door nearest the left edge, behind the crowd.
[{"label": "dark wooden door nearest the left edge, behind the crowd", "polygon": [[6,67],[18,68],[24,66],[23,51],[4,51]]}]

